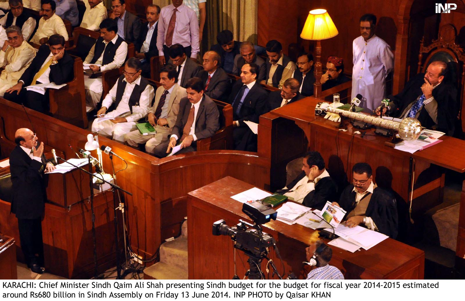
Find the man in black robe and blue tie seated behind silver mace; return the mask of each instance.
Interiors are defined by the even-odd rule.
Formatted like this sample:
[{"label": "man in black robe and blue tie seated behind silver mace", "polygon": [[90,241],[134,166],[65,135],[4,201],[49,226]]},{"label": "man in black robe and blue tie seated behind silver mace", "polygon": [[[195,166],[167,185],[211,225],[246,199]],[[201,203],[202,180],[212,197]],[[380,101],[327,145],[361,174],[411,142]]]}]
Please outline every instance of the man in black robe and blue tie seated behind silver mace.
[{"label": "man in black robe and blue tie seated behind silver mace", "polygon": [[414,76],[398,95],[388,96],[391,102],[383,112],[396,118],[416,118],[425,128],[452,135],[458,114],[457,88],[447,72],[445,62],[432,62],[426,73]]}]

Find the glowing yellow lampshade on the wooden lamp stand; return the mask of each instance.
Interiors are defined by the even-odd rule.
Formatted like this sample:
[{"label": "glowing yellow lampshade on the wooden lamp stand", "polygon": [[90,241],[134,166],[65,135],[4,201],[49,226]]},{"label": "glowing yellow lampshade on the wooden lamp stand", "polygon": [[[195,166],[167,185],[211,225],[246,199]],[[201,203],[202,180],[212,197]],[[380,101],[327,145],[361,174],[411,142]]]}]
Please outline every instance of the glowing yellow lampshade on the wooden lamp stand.
[{"label": "glowing yellow lampshade on the wooden lamp stand", "polygon": [[332,22],[326,9],[314,9],[308,13],[300,38],[306,40],[324,40],[338,35],[338,29]]}]

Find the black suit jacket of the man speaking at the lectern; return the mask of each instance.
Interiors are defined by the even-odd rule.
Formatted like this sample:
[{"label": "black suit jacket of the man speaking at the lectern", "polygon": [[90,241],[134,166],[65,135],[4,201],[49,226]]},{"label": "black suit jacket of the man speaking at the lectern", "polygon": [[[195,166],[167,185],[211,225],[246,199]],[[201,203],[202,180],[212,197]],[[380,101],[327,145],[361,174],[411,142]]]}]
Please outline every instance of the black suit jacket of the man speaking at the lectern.
[{"label": "black suit jacket of the man speaking at the lectern", "polygon": [[[39,141],[37,143],[40,144]],[[45,165],[44,155],[42,162],[39,162],[31,159],[19,145],[13,148],[10,154],[11,212],[17,218],[35,219],[42,216],[47,199],[43,179]]]}]

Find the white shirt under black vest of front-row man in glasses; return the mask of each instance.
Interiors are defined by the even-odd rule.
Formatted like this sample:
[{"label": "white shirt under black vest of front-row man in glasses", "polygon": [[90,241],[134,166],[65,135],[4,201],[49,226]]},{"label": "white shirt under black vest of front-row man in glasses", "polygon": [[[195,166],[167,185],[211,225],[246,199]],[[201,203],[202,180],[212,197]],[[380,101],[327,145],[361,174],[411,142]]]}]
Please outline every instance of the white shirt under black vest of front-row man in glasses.
[{"label": "white shirt under black vest of front-row man in glasses", "polygon": [[[126,87],[123,92],[123,96],[121,96],[121,101],[118,104],[118,107],[111,111],[110,113],[106,114],[105,117],[116,117],[122,113],[129,111],[129,98],[133,93],[134,87],[140,84],[141,77],[139,76],[133,83],[128,83],[126,78],[123,81],[126,82]],[[102,107],[110,108],[112,103],[116,100],[116,90],[118,89],[118,82],[115,83],[113,88],[110,92],[105,96],[102,101]],[[149,105],[151,100],[153,99],[155,92],[151,85],[147,85],[144,91],[140,94],[140,100],[138,106],[133,106],[133,114],[125,117],[127,122],[136,122],[140,118],[147,115],[149,110]]]}]

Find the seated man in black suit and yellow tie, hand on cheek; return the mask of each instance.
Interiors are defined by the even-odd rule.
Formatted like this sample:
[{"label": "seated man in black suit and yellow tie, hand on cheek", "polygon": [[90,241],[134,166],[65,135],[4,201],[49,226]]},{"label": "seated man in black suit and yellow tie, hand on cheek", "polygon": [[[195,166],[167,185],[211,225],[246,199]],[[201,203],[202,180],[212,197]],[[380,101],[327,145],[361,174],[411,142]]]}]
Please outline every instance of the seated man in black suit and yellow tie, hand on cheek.
[{"label": "seated man in black suit and yellow tie, hand on cheek", "polygon": [[16,103],[26,101],[26,106],[41,113],[49,110],[48,92],[44,95],[23,89],[38,83],[67,83],[74,77],[74,59],[65,51],[65,38],[50,36],[48,45],[42,45],[20,80],[3,96]]}]

